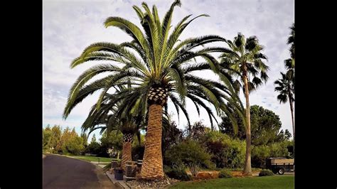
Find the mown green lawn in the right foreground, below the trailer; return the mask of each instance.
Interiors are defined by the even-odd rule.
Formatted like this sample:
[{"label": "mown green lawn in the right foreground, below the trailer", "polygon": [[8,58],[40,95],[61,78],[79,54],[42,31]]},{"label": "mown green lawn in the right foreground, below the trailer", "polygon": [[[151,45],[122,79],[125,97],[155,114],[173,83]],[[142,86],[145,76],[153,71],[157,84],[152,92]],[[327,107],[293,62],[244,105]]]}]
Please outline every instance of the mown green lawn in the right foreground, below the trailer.
[{"label": "mown green lawn in the right foreground, below the trailer", "polygon": [[294,175],[188,181],[176,183],[170,188],[294,188]]}]

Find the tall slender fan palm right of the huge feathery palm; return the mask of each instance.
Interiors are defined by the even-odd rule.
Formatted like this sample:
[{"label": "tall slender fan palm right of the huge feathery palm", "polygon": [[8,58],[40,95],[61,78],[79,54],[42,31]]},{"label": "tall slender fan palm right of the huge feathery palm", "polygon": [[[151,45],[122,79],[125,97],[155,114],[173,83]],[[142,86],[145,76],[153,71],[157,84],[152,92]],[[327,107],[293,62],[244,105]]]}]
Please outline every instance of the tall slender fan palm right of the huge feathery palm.
[{"label": "tall slender fan palm right of the huge feathery palm", "polygon": [[[232,75],[240,77],[233,82],[235,90],[242,90],[245,93],[246,99],[246,158],[245,168],[243,172],[250,175],[251,167],[251,135],[250,135],[250,99],[249,95],[252,90],[262,85],[262,81],[267,82],[268,66],[262,60],[267,60],[267,57],[261,53],[262,45],[259,44],[255,36],[245,38],[241,33],[238,33],[234,41],[226,41],[230,47],[222,55],[220,55],[220,66],[230,70]],[[260,75],[259,75],[260,74]],[[259,77],[260,76],[260,77]],[[244,122],[245,122],[244,121]]]}]

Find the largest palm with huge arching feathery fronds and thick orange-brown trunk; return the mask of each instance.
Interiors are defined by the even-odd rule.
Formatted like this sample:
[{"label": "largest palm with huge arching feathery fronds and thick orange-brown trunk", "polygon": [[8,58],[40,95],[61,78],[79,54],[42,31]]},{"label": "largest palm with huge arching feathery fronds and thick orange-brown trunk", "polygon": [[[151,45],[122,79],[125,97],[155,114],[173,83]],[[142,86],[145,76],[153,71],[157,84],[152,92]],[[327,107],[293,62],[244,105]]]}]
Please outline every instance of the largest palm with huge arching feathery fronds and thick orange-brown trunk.
[{"label": "largest palm with huge arching feathery fronds and thick orange-brown trunk", "polygon": [[[181,2],[179,0],[173,2],[163,21],[159,19],[156,6],[153,6],[151,12],[146,3],[143,2],[141,5],[144,12],[138,6],[133,6],[133,9],[139,16],[144,32],[124,18],[109,17],[105,21],[105,26],[122,29],[132,37],[132,41],[122,44],[94,43],[85,48],[80,57],[73,60],[71,68],[93,60],[109,60],[118,64],[100,64],[80,75],[70,89],[63,117],[66,119],[76,104],[97,90],[102,90],[97,101],[97,108],[99,108],[108,90],[117,85],[130,85],[131,87],[119,92],[119,98],[124,98],[127,102],[124,103],[123,109],[131,114],[136,114],[138,109],[141,109],[142,115],[145,115],[146,111],[149,115],[143,165],[139,178],[160,179],[164,178],[161,127],[163,107],[167,109],[167,102],[173,102],[178,113],[181,109],[188,120],[188,125],[191,125],[185,109],[186,97],[191,99],[198,114],[199,107],[206,110],[213,126],[213,120],[217,123],[218,121],[203,100],[211,102],[217,113],[227,113],[226,101],[232,102],[235,97],[233,97],[230,75],[219,70],[218,61],[210,54],[223,52],[225,48],[203,48],[205,44],[225,41],[225,39],[220,36],[202,36],[183,41],[178,39],[191,21],[207,15],[202,14],[189,21],[188,18],[191,15],[188,15],[169,33],[173,9],[175,6],[181,6]],[[205,62],[191,61],[196,58],[203,58]],[[210,69],[218,73],[225,85],[196,77],[191,73],[196,70]],[[103,72],[108,72],[109,75],[85,85],[92,77]],[[240,108],[237,107],[237,109]],[[237,126],[235,119],[232,121]]]}]

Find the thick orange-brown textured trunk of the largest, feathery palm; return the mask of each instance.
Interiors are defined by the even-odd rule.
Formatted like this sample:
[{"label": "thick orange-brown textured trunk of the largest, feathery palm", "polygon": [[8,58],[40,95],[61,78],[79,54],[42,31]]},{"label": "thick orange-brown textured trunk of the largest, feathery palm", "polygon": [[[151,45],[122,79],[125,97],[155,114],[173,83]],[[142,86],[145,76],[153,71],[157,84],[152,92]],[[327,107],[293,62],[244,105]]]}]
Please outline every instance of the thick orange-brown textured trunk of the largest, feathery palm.
[{"label": "thick orange-brown textured trunk of the largest, feathery palm", "polygon": [[151,104],[149,107],[149,123],[145,136],[143,164],[139,178],[154,180],[164,178],[163,158],[161,155],[161,124],[163,107]]}]

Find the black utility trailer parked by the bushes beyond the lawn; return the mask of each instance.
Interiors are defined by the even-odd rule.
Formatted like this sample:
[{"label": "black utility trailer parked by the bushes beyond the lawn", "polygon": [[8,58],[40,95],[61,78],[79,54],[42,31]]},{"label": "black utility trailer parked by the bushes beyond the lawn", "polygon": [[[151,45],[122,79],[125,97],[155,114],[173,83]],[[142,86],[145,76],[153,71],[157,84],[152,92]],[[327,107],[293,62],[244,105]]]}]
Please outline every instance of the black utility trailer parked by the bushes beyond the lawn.
[{"label": "black utility trailer parked by the bushes beyond the lawn", "polygon": [[284,172],[294,172],[294,159],[287,158],[267,158],[266,168],[272,170],[274,174],[283,175]]}]

